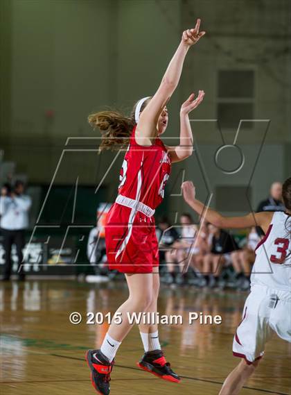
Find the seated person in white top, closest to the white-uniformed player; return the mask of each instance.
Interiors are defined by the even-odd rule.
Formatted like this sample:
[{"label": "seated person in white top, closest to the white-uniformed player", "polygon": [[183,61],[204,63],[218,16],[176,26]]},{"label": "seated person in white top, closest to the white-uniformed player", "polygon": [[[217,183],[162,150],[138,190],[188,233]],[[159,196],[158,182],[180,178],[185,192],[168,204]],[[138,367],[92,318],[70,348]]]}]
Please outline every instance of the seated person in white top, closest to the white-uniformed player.
[{"label": "seated person in white top, closest to the white-uniformed player", "polygon": [[253,227],[247,235],[245,247],[231,253],[231,262],[236,272],[236,287],[242,291],[249,289],[252,264],[256,259],[255,249],[260,239],[256,228]]}]

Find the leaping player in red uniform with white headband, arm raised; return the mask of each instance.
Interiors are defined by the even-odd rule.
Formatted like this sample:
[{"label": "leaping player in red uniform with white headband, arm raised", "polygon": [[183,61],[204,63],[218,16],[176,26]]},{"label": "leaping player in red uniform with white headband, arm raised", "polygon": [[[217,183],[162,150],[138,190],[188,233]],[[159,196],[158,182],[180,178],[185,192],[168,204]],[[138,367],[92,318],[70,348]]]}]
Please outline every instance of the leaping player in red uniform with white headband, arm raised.
[{"label": "leaping player in red uniform with white headband, arm raised", "polygon": [[[89,123],[103,133],[101,149],[127,145],[118,196],[107,216],[105,239],[109,267],[125,273],[130,296],[117,310],[122,322],[113,320],[100,350],[89,350],[86,354],[91,382],[100,394],[109,394],[114,356],[132,327],[127,313],[157,312],[159,255],[153,215],[164,198],[171,163],[188,158],[193,151],[188,114],[199,106],[204,92],[199,91],[196,99],[191,94],[182,105],[178,146],[165,146],[159,135],[164,133],[168,124],[166,103],[179,83],[186,53],[205,34],[199,30],[200,19],[195,28],[183,32],[157,92],[136,103],[130,118],[113,111],[89,116]],[[170,369],[161,351],[157,325],[141,323],[139,330],[145,349],[139,367],[179,383],[179,376]]]}]

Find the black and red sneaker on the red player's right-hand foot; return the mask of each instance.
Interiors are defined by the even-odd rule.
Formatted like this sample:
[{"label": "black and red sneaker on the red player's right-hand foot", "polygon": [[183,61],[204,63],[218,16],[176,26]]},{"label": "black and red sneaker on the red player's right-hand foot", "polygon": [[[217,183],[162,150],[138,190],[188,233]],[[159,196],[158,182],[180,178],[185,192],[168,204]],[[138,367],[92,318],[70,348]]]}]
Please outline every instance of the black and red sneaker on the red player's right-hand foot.
[{"label": "black and red sneaker on the red player's right-hand foot", "polygon": [[166,362],[164,353],[161,350],[148,351],[137,362],[137,366],[164,380],[172,381],[173,383],[179,383],[181,381],[177,373],[170,369],[170,363]]}]

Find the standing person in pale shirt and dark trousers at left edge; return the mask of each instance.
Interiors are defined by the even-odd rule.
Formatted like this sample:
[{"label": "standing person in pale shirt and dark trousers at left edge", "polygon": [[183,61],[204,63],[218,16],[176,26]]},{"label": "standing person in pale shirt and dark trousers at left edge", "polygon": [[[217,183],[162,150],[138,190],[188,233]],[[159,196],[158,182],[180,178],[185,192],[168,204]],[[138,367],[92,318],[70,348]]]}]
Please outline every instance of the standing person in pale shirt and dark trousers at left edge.
[{"label": "standing person in pale shirt and dark trousers at left edge", "polygon": [[[21,180],[15,182],[15,187],[10,194],[8,188],[1,189],[0,196],[0,227],[3,236],[3,248],[5,250],[5,264],[3,280],[9,280],[11,275],[11,249],[16,245],[18,265],[23,260],[22,250],[25,246],[25,230],[28,227],[28,212],[31,199],[24,194],[24,183]],[[24,269],[19,271],[19,280],[24,280]]]}]

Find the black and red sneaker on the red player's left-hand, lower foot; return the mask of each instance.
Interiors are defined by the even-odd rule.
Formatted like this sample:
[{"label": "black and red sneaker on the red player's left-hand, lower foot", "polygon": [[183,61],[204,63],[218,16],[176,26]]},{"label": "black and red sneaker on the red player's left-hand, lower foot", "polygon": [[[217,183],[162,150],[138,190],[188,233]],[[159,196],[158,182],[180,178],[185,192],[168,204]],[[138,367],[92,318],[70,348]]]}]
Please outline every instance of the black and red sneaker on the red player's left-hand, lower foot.
[{"label": "black and red sneaker on the red player's left-hand, lower foot", "polygon": [[86,360],[91,370],[91,383],[98,394],[109,395],[110,373],[114,361],[109,362],[100,350],[88,350]]}]

